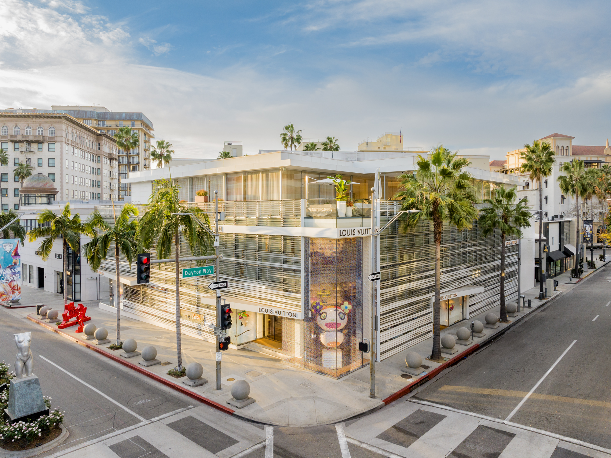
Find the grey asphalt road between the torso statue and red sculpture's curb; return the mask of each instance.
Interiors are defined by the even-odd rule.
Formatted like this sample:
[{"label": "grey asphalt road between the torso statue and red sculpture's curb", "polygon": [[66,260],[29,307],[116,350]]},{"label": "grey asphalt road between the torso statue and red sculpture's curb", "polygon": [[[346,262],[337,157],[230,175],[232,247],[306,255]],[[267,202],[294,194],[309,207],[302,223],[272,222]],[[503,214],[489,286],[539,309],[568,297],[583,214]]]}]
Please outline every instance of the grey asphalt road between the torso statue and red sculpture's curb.
[{"label": "grey asphalt road between the torso statue and red sculpture's curb", "polygon": [[64,426],[70,437],[62,448],[192,404],[180,393],[0,309],[0,360],[10,363],[11,370],[16,354],[13,334],[27,331],[32,331],[34,374],[40,379],[43,394],[53,398],[51,407],[65,411]]}]

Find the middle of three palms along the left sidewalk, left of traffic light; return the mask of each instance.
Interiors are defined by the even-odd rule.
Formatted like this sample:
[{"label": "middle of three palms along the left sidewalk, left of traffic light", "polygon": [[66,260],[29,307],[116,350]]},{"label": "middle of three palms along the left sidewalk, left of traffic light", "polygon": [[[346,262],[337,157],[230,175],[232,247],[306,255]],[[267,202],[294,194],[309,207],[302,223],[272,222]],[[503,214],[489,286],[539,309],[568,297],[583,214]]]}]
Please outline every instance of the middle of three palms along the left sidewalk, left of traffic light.
[{"label": "middle of three palms along the left sidewalk, left of traffic light", "polygon": [[[112,205],[112,212],[114,214],[114,204]],[[87,262],[93,269],[97,271],[102,264],[102,261],[106,259],[108,250],[111,247],[111,243],[114,244],[115,251],[115,306],[117,308],[117,345],[121,344],[121,306],[119,303],[120,298],[120,279],[119,279],[119,254],[122,253],[130,263],[137,254],[137,243],[136,243],[136,229],[138,227],[138,221],[133,219],[138,214],[136,205],[125,204],[119,213],[119,217],[115,216],[114,224],[111,226],[98,210],[94,210],[87,226],[90,231],[95,234],[89,243],[83,247],[83,253],[87,259]]]}]

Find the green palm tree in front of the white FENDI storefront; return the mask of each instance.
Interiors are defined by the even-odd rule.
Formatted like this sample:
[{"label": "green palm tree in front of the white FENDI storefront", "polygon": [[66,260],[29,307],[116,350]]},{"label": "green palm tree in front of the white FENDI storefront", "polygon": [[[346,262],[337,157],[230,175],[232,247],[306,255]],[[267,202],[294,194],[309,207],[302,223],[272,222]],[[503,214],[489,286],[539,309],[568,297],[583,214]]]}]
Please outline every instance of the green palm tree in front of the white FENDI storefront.
[{"label": "green palm tree in front of the white FENDI storefront", "polygon": [[[60,207],[61,208],[61,207]],[[40,257],[46,261],[49,259],[53,242],[56,238],[62,238],[62,262],[64,264],[64,278],[66,278],[66,251],[70,246],[75,253],[79,253],[81,248],[81,234],[92,235],[86,224],[81,223],[81,215],[76,213],[74,216],[70,213],[70,204],[66,204],[64,210],[57,215],[51,210],[44,210],[38,216],[39,224],[47,224],[42,227],[35,227],[27,232],[27,237],[30,242],[34,242],[40,237],[45,237],[45,240],[40,242],[38,251]],[[64,282],[65,285],[65,282]],[[64,286],[64,306],[68,302],[68,289]]]}]

